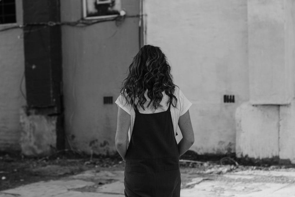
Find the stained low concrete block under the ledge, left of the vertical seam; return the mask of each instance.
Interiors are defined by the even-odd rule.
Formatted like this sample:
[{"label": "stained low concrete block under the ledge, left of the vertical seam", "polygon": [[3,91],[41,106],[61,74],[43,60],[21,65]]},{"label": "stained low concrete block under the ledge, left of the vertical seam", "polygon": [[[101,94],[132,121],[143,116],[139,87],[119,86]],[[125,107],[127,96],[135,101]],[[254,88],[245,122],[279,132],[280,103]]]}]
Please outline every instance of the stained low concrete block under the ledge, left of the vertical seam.
[{"label": "stained low concrete block under the ledge, left of the vertical seam", "polygon": [[236,110],[236,155],[264,159],[279,156],[279,106],[245,102]]}]

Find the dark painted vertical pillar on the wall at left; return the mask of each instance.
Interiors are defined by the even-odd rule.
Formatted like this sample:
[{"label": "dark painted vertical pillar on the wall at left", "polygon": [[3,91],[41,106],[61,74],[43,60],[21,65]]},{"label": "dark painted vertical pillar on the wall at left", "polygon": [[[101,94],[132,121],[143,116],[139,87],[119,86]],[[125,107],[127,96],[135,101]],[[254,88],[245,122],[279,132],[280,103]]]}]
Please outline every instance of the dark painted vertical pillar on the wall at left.
[{"label": "dark painted vertical pillar on the wall at left", "polygon": [[[24,24],[60,22],[60,0],[23,0]],[[57,148],[64,148],[61,27],[24,27],[27,105],[35,113],[58,116]]]}]

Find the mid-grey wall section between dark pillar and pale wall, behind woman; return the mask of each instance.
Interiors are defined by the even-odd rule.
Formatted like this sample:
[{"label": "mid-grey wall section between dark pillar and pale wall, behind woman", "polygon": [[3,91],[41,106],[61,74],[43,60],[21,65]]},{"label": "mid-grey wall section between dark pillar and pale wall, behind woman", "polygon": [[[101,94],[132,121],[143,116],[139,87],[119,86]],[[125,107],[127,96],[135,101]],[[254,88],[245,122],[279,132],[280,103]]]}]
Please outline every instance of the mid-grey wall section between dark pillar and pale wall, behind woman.
[{"label": "mid-grey wall section between dark pillar and pale wall, behind woman", "polygon": [[[81,18],[82,2],[61,1],[61,20]],[[122,0],[128,15],[139,14],[138,0]],[[113,153],[117,105],[103,104],[104,96],[119,95],[132,57],[139,50],[139,18],[121,25],[103,22],[77,28],[62,27],[65,130],[68,146],[96,154]]]}]

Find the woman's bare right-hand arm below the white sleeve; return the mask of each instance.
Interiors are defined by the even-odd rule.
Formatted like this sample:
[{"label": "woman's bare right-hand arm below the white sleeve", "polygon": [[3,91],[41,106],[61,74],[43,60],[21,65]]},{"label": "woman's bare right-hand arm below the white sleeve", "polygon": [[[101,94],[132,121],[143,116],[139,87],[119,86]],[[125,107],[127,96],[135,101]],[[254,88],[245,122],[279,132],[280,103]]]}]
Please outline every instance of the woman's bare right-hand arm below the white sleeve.
[{"label": "woman's bare right-hand arm below the white sleeve", "polygon": [[183,138],[178,143],[179,157],[183,155],[194,144],[195,137],[193,127],[191,126],[191,117],[189,110],[179,117],[178,126],[182,133]]}]

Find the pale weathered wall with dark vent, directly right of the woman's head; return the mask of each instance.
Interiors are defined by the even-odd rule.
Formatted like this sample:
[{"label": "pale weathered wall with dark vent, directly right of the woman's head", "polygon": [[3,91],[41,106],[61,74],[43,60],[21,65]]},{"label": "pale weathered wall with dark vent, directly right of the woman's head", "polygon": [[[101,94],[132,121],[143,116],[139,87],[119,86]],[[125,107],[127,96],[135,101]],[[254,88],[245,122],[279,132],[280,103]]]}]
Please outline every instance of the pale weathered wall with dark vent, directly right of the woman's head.
[{"label": "pale weathered wall with dark vent, directly right of the woman's head", "polygon": [[[192,150],[235,152],[235,109],[249,99],[247,1],[145,1],[147,43],[160,46],[193,103]],[[223,103],[223,95],[235,103]]]}]

